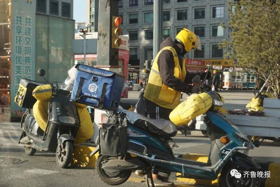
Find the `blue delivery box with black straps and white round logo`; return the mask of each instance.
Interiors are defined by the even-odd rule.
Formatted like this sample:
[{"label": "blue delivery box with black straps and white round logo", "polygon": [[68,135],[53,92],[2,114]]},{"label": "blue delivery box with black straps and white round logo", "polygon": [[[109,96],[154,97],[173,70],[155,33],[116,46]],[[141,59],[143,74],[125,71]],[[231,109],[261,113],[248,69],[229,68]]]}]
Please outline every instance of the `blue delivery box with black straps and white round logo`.
[{"label": "blue delivery box with black straps and white round logo", "polygon": [[99,109],[119,107],[125,77],[115,72],[82,64],[76,65],[71,100]]}]

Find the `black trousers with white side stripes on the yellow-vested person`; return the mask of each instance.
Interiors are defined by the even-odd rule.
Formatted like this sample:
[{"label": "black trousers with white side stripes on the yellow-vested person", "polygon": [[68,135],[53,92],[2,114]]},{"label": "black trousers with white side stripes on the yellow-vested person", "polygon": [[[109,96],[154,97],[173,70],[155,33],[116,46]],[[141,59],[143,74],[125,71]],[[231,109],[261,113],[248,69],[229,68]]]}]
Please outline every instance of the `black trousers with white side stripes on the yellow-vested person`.
[{"label": "black trousers with white side stripes on the yellow-vested person", "polygon": [[169,115],[173,109],[164,108],[156,103],[146,99],[144,97],[146,111],[148,113],[148,117],[152,119],[169,119]]}]

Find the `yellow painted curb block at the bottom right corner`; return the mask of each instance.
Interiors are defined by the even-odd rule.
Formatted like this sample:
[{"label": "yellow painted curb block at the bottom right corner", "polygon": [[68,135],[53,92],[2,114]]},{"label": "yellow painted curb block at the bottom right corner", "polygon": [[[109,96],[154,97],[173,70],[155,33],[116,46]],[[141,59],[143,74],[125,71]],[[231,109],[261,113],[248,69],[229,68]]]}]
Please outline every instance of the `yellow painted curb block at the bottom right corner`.
[{"label": "yellow painted curb block at the bottom right corner", "polygon": [[265,187],[279,187],[280,186],[280,163],[271,163],[268,166],[268,171],[270,171],[270,178],[265,180]]}]

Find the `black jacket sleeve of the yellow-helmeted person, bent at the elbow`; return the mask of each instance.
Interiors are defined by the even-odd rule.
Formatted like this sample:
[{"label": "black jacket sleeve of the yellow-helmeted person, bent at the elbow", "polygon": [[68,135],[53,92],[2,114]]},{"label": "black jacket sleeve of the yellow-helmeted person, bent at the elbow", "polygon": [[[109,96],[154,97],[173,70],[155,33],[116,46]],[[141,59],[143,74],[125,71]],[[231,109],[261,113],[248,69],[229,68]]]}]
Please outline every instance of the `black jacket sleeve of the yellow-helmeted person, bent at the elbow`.
[{"label": "black jacket sleeve of the yellow-helmeted person, bent at the elbow", "polygon": [[162,51],[157,63],[163,84],[177,91],[191,93],[192,86],[174,76],[174,57],[170,50]]}]

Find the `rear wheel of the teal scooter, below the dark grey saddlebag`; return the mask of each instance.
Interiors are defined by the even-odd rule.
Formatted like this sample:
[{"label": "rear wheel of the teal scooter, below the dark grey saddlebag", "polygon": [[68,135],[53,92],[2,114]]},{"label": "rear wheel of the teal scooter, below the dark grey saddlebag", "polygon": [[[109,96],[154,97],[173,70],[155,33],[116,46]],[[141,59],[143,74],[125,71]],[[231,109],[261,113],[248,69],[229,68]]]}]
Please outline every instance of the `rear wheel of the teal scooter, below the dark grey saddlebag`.
[{"label": "rear wheel of the teal scooter, below the dark grey saddlebag", "polygon": [[128,180],[128,178],[131,175],[131,171],[120,171],[117,173],[106,172],[103,169],[103,166],[111,159],[117,159],[117,157],[110,157],[110,156],[103,155],[97,158],[96,168],[97,168],[98,176],[107,185],[112,185],[112,186],[121,185]]}]

